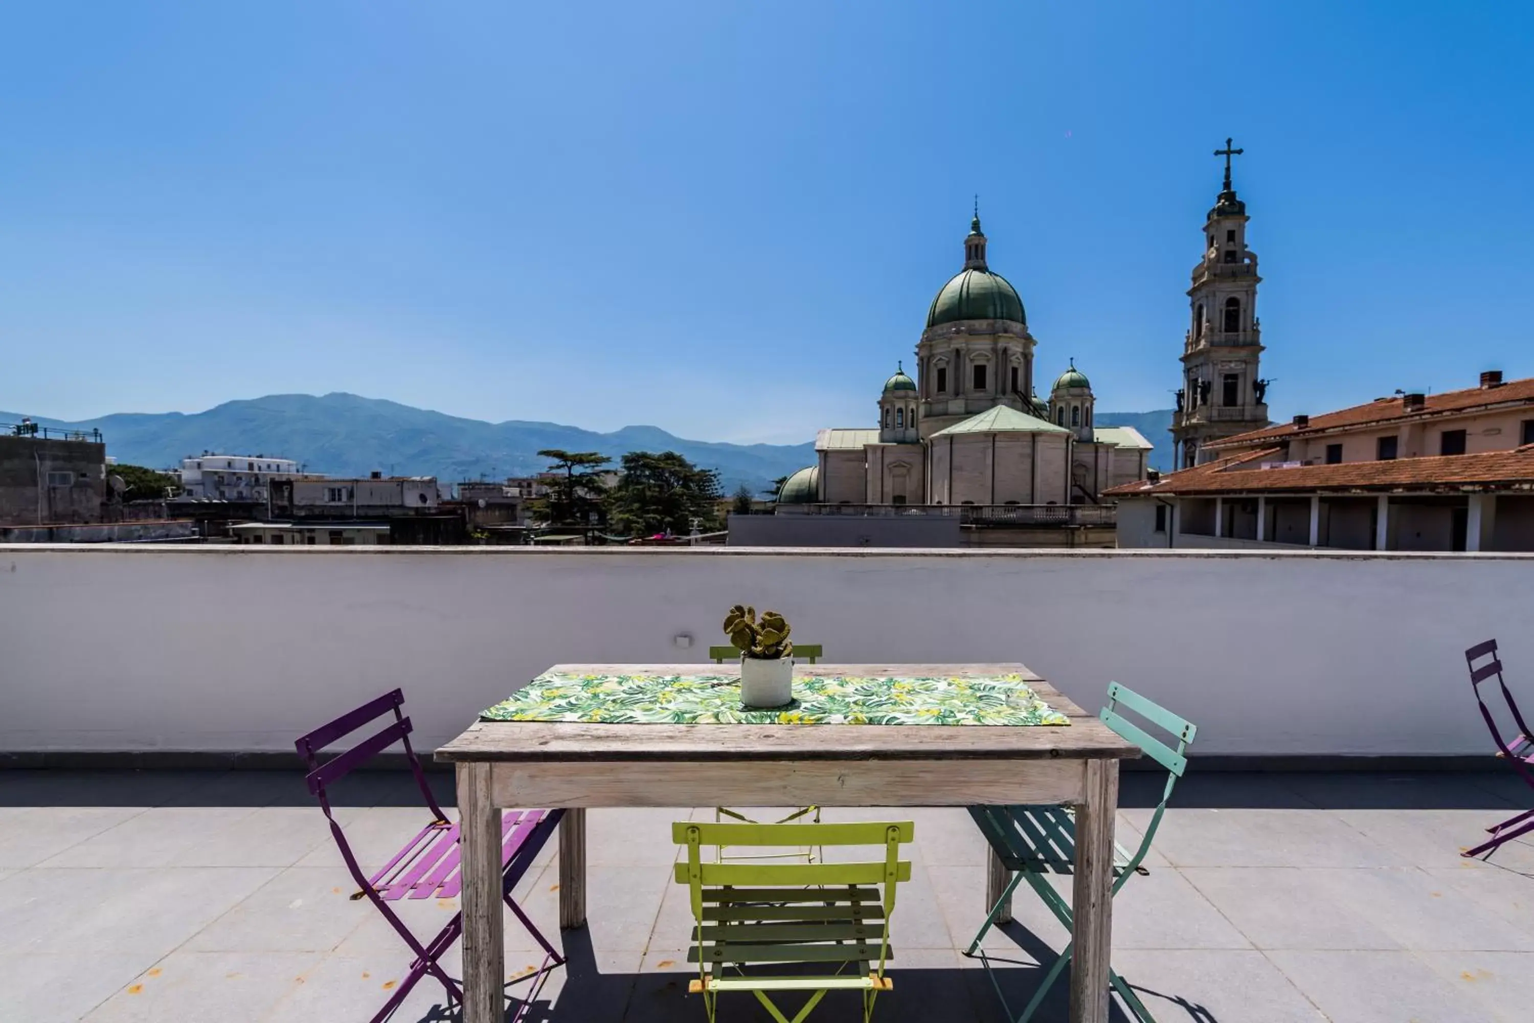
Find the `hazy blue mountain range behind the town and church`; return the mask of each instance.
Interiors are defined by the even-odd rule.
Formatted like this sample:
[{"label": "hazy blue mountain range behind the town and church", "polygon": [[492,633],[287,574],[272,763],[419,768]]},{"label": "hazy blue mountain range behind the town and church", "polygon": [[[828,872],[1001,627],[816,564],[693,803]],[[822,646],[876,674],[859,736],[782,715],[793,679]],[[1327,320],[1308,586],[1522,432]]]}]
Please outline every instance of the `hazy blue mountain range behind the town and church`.
[{"label": "hazy blue mountain range behind the town and church", "polygon": [[[0,420],[20,422],[0,413]],[[598,451],[617,460],[629,451],[676,451],[695,465],[718,469],[726,492],[741,483],[765,491],[772,480],[815,465],[815,445],[735,445],[687,440],[658,426],[595,433],[560,423],[486,423],[356,394],[268,394],[224,402],[206,413],[114,413],[63,422],[32,416],[43,426],[100,429],[118,462],[167,468],[204,451],[296,459],[310,472],[459,480],[531,475],[548,468],[545,448]],[[1098,425],[1135,426],[1163,456],[1169,411],[1100,413]]]}]

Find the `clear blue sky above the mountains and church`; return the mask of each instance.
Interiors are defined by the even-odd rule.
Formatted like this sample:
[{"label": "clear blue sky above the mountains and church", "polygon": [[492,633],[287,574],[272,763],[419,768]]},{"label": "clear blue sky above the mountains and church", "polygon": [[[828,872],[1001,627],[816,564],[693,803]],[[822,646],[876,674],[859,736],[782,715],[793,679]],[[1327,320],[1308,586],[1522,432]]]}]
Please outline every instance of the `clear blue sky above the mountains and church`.
[{"label": "clear blue sky above the mountains and church", "polygon": [[[1045,382],[1170,405],[1233,135],[1275,417],[1534,376],[1529,5],[0,11],[0,408],[873,422],[971,195]],[[1154,439],[1158,445],[1164,439]]]}]

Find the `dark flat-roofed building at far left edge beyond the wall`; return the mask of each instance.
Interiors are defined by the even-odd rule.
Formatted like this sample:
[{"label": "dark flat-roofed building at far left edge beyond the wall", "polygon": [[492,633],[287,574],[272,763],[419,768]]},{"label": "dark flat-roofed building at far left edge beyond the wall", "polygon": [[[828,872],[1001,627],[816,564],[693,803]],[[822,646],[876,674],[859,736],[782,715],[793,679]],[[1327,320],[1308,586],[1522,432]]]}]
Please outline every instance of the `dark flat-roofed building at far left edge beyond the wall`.
[{"label": "dark flat-roofed building at far left edge beyond the wall", "polygon": [[0,425],[0,526],[98,523],[106,494],[100,433]]}]

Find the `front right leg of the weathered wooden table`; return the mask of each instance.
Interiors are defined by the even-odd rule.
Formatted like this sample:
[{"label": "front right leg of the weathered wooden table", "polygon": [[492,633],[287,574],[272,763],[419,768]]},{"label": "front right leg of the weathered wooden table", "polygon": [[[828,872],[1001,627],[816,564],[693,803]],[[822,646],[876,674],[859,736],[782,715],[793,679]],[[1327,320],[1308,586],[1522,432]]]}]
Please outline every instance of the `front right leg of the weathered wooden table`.
[{"label": "front right leg of the weathered wooden table", "polygon": [[1108,956],[1114,919],[1114,817],[1118,761],[1088,761],[1075,810],[1075,891],[1071,908],[1071,1023],[1108,1023]]}]

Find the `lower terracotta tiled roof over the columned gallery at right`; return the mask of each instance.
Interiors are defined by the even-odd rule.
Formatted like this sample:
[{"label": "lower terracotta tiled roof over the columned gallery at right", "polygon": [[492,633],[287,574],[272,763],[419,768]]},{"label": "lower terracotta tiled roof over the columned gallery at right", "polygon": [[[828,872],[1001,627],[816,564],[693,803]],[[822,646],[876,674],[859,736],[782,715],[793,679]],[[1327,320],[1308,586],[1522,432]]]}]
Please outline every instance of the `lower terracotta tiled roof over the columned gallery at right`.
[{"label": "lower terracotta tiled roof over the columned gallery at right", "polygon": [[1106,497],[1232,494],[1255,491],[1434,491],[1463,486],[1525,486],[1534,489],[1534,445],[1483,454],[1451,454],[1390,462],[1341,462],[1264,469],[1282,457],[1279,448],[1246,452],[1163,475],[1157,483],[1124,483]]}]

